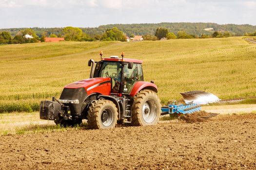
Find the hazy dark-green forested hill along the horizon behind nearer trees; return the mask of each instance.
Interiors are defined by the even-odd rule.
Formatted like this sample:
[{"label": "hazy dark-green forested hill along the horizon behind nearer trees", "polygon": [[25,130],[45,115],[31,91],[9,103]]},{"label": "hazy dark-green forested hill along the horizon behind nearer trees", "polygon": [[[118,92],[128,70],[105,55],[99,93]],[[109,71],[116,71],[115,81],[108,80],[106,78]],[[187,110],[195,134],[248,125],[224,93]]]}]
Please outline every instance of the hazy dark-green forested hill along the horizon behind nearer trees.
[{"label": "hazy dark-green forested hill along the horizon behind nearer trees", "polygon": [[[256,30],[256,26],[243,24],[216,24],[216,23],[187,23],[187,22],[179,22],[179,23],[169,23],[162,22],[157,24],[108,24],[101,25],[95,28],[80,28],[83,33],[88,34],[90,37],[94,37],[95,35],[104,34],[107,29],[111,29],[113,27],[117,27],[118,30],[124,32],[127,36],[131,35],[154,35],[157,28],[167,28],[170,33],[177,34],[179,31],[184,31],[187,34],[193,34],[196,36],[201,36],[202,34],[210,35],[213,34],[214,31],[228,31],[235,36],[242,36],[246,33],[254,33]],[[213,28],[214,31],[206,31],[205,28]],[[63,28],[32,28],[35,33],[41,37],[41,34],[46,36],[50,36],[50,34],[56,34],[59,36],[61,34]],[[0,32],[7,31],[10,32],[12,36],[15,36],[18,32],[24,30],[24,28],[9,28],[9,29],[0,29]]]}]

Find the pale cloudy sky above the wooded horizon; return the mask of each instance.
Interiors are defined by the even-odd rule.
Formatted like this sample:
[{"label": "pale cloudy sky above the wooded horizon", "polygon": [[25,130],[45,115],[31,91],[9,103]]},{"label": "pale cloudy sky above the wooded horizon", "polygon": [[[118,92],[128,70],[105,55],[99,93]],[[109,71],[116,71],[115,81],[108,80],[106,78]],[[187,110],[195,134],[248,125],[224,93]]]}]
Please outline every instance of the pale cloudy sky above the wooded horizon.
[{"label": "pale cloudy sky above the wooded horizon", "polygon": [[159,22],[256,25],[256,0],[0,0],[0,28]]}]

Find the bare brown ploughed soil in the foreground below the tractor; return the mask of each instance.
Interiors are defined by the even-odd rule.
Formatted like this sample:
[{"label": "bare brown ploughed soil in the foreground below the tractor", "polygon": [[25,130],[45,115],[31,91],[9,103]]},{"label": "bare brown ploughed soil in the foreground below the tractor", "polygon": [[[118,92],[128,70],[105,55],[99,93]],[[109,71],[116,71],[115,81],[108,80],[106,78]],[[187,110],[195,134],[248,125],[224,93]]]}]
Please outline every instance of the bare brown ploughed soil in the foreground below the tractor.
[{"label": "bare brown ploughed soil in the foreground below the tractor", "polygon": [[0,170],[256,169],[256,114],[0,136]]}]

